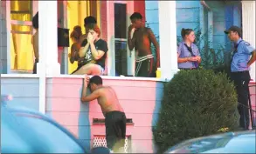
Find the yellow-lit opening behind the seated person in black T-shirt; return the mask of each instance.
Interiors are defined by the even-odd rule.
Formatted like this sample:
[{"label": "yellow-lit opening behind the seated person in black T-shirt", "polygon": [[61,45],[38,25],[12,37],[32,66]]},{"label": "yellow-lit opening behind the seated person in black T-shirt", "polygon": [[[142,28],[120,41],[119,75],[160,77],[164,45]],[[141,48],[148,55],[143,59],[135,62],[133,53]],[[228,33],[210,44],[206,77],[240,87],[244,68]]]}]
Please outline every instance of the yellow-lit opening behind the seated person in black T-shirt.
[{"label": "yellow-lit opening behind the seated person in black T-shirt", "polygon": [[[92,14],[91,10],[97,10],[97,14]],[[85,34],[84,18],[88,16],[96,17],[100,25],[100,1],[67,1],[67,28],[70,30],[70,33],[72,33],[74,26],[80,25],[82,33]],[[70,47],[68,48],[68,53],[71,53],[73,42],[71,38],[69,41]],[[68,74],[76,70],[77,66],[77,62],[71,64],[68,60]]]}]

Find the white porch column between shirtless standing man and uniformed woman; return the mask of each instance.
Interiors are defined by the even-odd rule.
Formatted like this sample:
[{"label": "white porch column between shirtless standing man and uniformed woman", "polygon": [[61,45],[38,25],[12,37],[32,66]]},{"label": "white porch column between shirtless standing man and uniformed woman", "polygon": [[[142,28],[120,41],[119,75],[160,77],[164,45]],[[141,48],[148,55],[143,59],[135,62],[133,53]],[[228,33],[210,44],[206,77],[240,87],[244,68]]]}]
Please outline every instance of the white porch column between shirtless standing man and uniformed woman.
[{"label": "white porch column between shirtless standing man and uniformed woman", "polygon": [[176,1],[158,1],[161,77],[171,79],[178,71]]}]

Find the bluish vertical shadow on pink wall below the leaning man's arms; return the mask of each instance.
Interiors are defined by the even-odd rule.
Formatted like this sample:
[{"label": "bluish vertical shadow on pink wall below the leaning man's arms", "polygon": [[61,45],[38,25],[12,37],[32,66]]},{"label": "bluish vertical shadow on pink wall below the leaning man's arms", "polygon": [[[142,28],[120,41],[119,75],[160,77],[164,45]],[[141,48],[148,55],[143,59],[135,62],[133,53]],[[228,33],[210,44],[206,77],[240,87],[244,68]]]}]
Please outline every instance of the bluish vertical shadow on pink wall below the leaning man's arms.
[{"label": "bluish vertical shadow on pink wall below the leaning man's arms", "polygon": [[[83,79],[82,79],[83,80]],[[82,87],[80,88],[80,96],[82,95],[82,90],[84,86],[84,82],[82,81]],[[87,95],[90,93],[87,90]],[[90,139],[91,138],[91,128],[90,128],[90,120],[89,120],[89,103],[82,104],[80,102],[80,114],[79,114],[79,140],[80,143],[83,145],[86,152],[91,151],[90,149]]]}]

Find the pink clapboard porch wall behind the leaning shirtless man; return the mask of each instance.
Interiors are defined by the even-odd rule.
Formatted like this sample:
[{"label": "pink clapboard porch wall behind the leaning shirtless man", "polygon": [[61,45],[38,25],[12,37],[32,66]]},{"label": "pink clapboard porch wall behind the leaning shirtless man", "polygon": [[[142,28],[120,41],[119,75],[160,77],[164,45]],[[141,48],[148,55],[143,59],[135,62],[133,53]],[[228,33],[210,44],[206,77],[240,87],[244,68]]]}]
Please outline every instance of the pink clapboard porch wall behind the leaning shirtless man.
[{"label": "pink clapboard porch wall behind the leaning shirtless man", "polygon": [[[153,152],[151,130],[160,107],[163,84],[155,81],[105,79],[104,85],[114,88],[127,118],[132,118],[135,123],[127,126],[127,135],[132,137],[132,144],[135,145],[133,151],[137,147],[143,152]],[[93,125],[93,118],[104,117],[97,101],[80,103],[81,87],[82,79],[79,78],[47,79],[46,111],[79,137],[88,149],[94,135],[105,135],[104,125]]]}]

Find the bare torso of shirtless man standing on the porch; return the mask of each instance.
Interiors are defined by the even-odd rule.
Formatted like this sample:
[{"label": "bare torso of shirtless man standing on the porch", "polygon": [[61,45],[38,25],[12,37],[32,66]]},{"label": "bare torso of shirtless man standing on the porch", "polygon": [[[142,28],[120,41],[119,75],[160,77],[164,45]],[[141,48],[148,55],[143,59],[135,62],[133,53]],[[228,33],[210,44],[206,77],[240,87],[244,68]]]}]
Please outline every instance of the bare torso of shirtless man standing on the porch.
[{"label": "bare torso of shirtless man standing on the porch", "polygon": [[135,50],[139,57],[144,57],[152,54],[151,40],[149,37],[149,28],[143,27],[135,30]]}]

